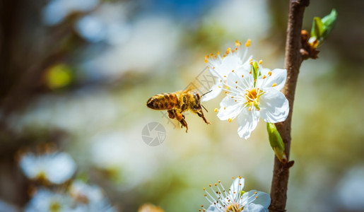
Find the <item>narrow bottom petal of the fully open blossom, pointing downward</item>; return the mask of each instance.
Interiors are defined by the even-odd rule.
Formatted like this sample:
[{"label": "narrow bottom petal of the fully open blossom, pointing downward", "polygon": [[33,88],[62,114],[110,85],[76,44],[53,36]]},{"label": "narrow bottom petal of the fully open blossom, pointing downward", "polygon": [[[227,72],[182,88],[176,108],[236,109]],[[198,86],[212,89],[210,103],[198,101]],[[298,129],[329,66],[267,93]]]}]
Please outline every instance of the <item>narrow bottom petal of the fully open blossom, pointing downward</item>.
[{"label": "narrow bottom petal of the fully open blossom, pointing downward", "polygon": [[251,111],[248,108],[243,109],[239,117],[237,117],[237,134],[242,139],[249,138],[252,131],[257,127],[258,122],[259,111],[255,110],[255,107],[252,107]]}]

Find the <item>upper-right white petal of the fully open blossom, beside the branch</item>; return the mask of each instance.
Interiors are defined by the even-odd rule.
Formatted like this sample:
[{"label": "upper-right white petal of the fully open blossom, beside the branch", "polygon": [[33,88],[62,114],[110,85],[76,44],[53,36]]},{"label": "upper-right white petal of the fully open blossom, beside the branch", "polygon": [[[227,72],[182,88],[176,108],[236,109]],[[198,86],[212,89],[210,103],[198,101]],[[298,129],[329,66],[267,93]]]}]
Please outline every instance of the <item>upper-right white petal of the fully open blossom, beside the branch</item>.
[{"label": "upper-right white petal of the fully open blossom, beside the branch", "polygon": [[[262,88],[262,90],[266,90],[269,88],[274,88],[276,90],[282,90],[284,84],[286,83],[287,79],[287,70],[286,69],[274,69],[271,71],[271,76],[269,76],[267,73],[264,73],[262,71],[262,76],[266,75],[265,80],[262,81],[263,85],[258,85],[259,88]],[[268,69],[269,70],[269,69]],[[272,87],[273,86],[273,87]]]}]

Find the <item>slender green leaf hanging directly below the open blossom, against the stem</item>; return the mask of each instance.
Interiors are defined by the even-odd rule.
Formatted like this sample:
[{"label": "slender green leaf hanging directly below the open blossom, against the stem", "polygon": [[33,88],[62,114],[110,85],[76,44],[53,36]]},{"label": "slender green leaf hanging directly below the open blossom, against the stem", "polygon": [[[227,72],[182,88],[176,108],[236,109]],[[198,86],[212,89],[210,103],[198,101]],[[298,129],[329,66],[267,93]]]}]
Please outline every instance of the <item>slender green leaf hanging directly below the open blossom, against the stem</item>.
[{"label": "slender green leaf hanging directly below the open blossom, against the stem", "polygon": [[277,158],[281,163],[287,163],[286,152],[284,151],[284,143],[279,134],[276,125],[272,123],[266,123],[266,131],[268,131],[269,143],[271,144],[271,148],[276,154]]}]

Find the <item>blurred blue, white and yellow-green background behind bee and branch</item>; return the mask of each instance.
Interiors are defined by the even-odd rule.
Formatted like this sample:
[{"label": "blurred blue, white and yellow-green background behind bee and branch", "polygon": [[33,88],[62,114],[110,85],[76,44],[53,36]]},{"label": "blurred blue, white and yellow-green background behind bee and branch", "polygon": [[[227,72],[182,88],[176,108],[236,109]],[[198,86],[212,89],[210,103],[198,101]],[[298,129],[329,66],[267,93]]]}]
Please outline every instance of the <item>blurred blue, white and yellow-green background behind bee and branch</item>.
[{"label": "blurred blue, white and yellow-green background behind bee and branch", "polygon": [[[312,1],[303,28],[336,8],[338,20],[304,61],[293,110],[288,211],[364,211],[364,1]],[[206,125],[189,132],[146,107],[157,93],[185,88],[204,55],[252,39],[266,68],[284,66],[288,1],[49,0],[0,3],[0,211],[21,210],[30,182],[16,155],[55,143],[74,158],[75,178],[104,189],[119,211],[150,202],[197,211],[203,187],[245,177],[269,193],[274,153],[264,122],[250,139],[204,103]],[[143,142],[158,122],[159,146]]]}]

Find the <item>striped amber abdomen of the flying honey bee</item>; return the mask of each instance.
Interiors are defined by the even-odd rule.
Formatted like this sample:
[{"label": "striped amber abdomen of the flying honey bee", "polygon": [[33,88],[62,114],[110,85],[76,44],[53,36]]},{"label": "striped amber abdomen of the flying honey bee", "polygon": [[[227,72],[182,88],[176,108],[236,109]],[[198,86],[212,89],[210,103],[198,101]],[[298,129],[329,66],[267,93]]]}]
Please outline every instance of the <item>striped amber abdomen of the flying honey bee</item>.
[{"label": "striped amber abdomen of the flying honey bee", "polygon": [[154,110],[170,110],[178,105],[176,93],[160,93],[146,102],[146,106]]}]

